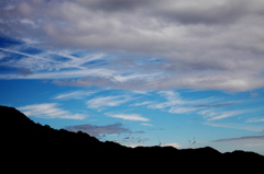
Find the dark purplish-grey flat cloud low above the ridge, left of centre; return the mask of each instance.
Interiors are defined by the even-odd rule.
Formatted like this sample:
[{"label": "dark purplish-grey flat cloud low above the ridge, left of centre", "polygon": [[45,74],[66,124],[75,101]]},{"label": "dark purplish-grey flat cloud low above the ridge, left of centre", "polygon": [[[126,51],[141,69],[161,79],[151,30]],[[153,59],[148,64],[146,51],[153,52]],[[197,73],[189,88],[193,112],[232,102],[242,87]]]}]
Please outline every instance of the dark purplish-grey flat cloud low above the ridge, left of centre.
[{"label": "dark purplish-grey flat cloud low above the ridge, left of centre", "polygon": [[69,131],[82,131],[87,132],[90,136],[100,137],[101,135],[113,135],[113,134],[122,134],[128,132],[129,129],[123,128],[122,124],[117,123],[112,125],[106,126],[95,126],[95,125],[76,125],[76,126],[67,126],[66,130]]}]

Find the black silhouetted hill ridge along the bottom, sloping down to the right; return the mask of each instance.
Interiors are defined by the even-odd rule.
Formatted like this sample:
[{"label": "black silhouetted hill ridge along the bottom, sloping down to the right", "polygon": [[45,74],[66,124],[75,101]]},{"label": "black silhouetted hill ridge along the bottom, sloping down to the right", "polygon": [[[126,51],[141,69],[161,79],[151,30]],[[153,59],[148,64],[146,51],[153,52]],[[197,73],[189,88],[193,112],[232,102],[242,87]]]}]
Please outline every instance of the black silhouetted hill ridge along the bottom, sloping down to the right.
[{"label": "black silhouetted hill ridge along the bottom, sloping down to the right", "polygon": [[12,107],[0,106],[0,120],[3,173],[260,173],[264,165],[264,156],[254,152],[100,142],[35,124]]}]

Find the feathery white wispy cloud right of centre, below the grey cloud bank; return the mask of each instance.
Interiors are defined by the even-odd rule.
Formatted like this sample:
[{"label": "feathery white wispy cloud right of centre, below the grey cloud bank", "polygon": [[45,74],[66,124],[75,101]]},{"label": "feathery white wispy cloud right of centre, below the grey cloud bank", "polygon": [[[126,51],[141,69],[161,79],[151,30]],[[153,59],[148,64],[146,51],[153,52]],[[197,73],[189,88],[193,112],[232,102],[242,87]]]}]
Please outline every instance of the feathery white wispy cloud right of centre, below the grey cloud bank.
[{"label": "feathery white wispy cloud right of centre, below the grey cloud bank", "polygon": [[[213,119],[222,119],[228,116],[238,115],[237,112],[228,113],[229,115],[223,115],[222,113],[216,113],[218,108],[233,105],[234,103],[222,103],[223,98],[217,97],[206,97],[206,98],[184,98],[179,92],[175,91],[161,91],[157,93],[161,95],[163,101],[144,101],[141,103],[135,103],[132,106],[146,106],[152,109],[161,109],[172,114],[190,114],[197,113],[199,115],[205,115],[205,117],[213,117]],[[161,100],[160,98],[160,100]],[[165,100],[165,101],[164,101]],[[217,117],[218,115],[218,117]]]}]

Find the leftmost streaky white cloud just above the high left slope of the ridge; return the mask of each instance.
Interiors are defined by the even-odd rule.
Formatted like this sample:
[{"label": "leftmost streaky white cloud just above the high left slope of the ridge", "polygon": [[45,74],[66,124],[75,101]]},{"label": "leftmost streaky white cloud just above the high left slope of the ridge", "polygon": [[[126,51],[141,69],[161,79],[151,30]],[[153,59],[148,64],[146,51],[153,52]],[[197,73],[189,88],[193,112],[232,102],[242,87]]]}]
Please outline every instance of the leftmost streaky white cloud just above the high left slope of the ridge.
[{"label": "leftmost streaky white cloud just above the high left slope of the ridge", "polygon": [[41,118],[62,118],[62,119],[85,119],[87,115],[72,114],[57,107],[57,103],[43,103],[19,107],[26,116]]}]

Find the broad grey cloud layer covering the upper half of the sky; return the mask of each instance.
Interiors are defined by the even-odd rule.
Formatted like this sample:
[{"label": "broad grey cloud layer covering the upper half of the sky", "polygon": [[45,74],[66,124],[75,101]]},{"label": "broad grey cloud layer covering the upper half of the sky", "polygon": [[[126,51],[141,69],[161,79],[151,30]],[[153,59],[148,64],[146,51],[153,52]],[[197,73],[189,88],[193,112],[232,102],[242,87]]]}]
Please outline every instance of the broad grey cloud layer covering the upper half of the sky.
[{"label": "broad grey cloud layer covering the upper half of the sky", "polygon": [[[262,0],[7,1],[1,4],[1,35],[68,53],[57,51],[66,59],[57,63],[46,51],[1,50],[26,57],[13,61],[16,67],[53,70],[20,78],[75,78],[56,84],[249,91],[264,86],[263,7]],[[76,57],[73,49],[98,54]],[[103,66],[87,69],[87,62],[102,59],[108,60]],[[43,65],[38,70],[36,60]],[[75,70],[54,72],[62,69]]]}]

